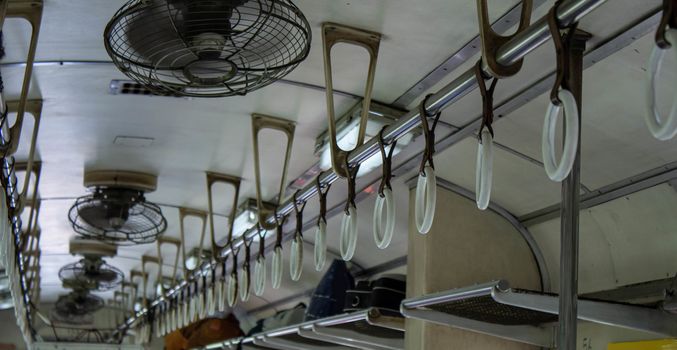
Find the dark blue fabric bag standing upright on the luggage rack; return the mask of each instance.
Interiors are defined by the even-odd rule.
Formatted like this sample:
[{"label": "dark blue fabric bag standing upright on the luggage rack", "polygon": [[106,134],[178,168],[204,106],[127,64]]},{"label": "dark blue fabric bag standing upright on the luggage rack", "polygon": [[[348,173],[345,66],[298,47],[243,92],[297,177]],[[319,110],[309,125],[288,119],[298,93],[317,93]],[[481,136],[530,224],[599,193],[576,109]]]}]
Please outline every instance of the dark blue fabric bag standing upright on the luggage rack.
[{"label": "dark blue fabric bag standing upright on the luggage rack", "polygon": [[346,291],[354,287],[355,279],[346,262],[334,260],[310,297],[305,320],[316,320],[342,313]]}]

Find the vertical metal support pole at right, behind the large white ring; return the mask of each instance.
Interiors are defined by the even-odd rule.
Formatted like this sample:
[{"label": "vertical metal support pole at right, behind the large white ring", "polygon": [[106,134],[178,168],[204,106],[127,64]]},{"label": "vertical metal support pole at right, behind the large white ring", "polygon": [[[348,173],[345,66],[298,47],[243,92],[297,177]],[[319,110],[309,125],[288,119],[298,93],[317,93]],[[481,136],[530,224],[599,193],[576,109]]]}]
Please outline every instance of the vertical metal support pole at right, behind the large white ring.
[{"label": "vertical metal support pole at right, behind the large white ring", "polygon": [[[583,102],[583,53],[590,34],[576,31],[570,42],[569,75],[565,82],[578,107],[578,147],[569,176],[562,181],[560,293],[558,349],[576,350],[578,325],[578,216],[581,191],[581,112]],[[566,127],[566,125],[565,125]]]}]

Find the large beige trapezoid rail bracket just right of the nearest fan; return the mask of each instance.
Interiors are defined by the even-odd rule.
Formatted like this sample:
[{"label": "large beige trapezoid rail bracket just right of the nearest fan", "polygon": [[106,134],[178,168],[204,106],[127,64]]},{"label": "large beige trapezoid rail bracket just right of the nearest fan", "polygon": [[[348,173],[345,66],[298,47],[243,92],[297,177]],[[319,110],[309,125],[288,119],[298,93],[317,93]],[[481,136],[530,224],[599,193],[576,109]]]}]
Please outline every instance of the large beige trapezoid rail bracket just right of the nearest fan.
[{"label": "large beige trapezoid rail bracket just right of the nearest fan", "polygon": [[351,28],[335,23],[324,23],[322,25],[322,43],[324,48],[324,79],[327,93],[327,114],[329,117],[329,149],[331,151],[331,165],[334,172],[341,177],[348,177],[346,169],[346,159],[348,153],[352,150],[342,150],[338,146],[336,139],[336,116],[334,110],[334,84],[331,69],[331,49],[337,43],[346,43],[363,47],[369,53],[369,70],[367,73],[367,82],[364,89],[364,100],[362,101],[362,114],[360,116],[360,128],[357,134],[355,148],[364,143],[364,136],[367,131],[367,119],[369,117],[369,106],[371,104],[371,93],[374,87],[374,76],[376,75],[376,61],[381,42],[381,34],[369,32],[361,29]]}]

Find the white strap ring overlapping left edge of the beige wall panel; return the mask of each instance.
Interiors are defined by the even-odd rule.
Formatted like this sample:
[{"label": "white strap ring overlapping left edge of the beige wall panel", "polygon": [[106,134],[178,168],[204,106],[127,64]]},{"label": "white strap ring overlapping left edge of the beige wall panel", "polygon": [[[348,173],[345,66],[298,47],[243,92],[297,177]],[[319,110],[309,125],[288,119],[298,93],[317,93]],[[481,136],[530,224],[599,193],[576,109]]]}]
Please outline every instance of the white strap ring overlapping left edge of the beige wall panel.
[{"label": "white strap ring overlapping left edge of the beige wall panel", "polygon": [[419,233],[426,234],[433,226],[436,202],[437,179],[435,178],[435,169],[431,166],[426,166],[423,169],[423,173],[418,175],[418,182],[416,184],[414,216],[416,217],[416,228]]}]

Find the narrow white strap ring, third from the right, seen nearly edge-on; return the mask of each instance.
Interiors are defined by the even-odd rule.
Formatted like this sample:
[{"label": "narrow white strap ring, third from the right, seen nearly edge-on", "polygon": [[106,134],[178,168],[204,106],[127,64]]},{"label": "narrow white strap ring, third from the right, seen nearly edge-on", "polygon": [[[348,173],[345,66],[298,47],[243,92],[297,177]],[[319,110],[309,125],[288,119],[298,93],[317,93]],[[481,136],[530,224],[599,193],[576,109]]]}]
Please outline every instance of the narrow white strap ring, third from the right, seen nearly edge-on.
[{"label": "narrow white strap ring, third from the right, seen nearly edge-on", "polygon": [[475,167],[475,202],[477,208],[485,210],[491,199],[491,183],[494,172],[494,138],[489,130],[482,130],[482,142],[477,145]]}]

